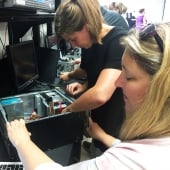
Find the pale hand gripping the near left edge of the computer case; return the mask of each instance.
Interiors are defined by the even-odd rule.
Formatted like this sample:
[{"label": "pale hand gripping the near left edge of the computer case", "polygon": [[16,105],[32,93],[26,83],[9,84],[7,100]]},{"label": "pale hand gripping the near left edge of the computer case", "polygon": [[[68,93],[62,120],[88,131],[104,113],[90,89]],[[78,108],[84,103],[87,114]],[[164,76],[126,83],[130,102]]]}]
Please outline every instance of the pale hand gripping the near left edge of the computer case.
[{"label": "pale hand gripping the near left edge of the computer case", "polygon": [[30,141],[31,133],[26,129],[23,119],[7,122],[6,126],[8,137],[15,147]]}]

